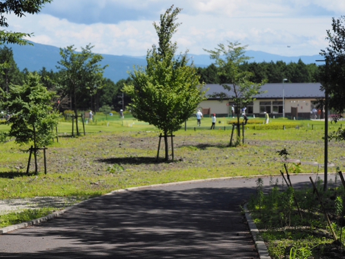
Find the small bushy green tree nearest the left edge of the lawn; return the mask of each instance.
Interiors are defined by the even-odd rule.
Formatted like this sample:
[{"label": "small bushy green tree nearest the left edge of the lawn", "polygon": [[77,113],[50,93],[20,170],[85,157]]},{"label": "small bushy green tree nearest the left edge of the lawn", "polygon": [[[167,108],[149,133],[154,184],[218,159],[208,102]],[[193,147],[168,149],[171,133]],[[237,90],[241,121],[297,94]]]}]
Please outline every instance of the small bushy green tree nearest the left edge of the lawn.
[{"label": "small bushy green tree nearest the left edge of the lawn", "polygon": [[54,92],[47,90],[37,74],[30,74],[23,86],[10,85],[4,93],[3,106],[11,113],[10,137],[19,144],[34,144],[35,173],[37,174],[37,148],[52,141],[52,128],[57,126],[59,114],[52,108]]}]

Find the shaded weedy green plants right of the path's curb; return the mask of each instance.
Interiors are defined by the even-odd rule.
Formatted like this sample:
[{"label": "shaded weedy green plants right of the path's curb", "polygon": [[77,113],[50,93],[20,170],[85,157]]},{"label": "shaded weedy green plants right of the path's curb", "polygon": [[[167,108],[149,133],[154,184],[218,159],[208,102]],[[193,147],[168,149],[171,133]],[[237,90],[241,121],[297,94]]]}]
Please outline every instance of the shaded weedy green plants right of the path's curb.
[{"label": "shaded weedy green plants right of the path's curb", "polygon": [[[322,190],[322,181],[317,180],[317,189],[322,198],[322,204],[331,218],[332,228],[340,237],[338,244],[342,245],[342,220],[345,196],[344,189]],[[299,203],[303,219],[297,215],[293,198]],[[319,204],[313,188],[293,190],[279,189],[277,182],[272,190],[262,195],[255,195],[248,203],[248,208],[261,229],[264,241],[268,243],[271,258],[323,258],[325,247],[333,243],[333,234],[328,229],[324,211]],[[336,216],[337,215],[337,216]]]}]

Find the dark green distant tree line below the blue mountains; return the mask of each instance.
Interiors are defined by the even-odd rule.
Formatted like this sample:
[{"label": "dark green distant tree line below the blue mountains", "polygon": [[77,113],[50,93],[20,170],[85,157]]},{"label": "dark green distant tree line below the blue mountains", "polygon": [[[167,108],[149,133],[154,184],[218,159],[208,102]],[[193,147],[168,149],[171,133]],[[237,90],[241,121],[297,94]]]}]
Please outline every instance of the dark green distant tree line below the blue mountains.
[{"label": "dark green distant tree line below the blue mountains", "polygon": [[[91,47],[88,46],[87,48],[90,51]],[[70,48],[69,54],[72,55],[72,48]],[[0,87],[4,91],[8,91],[10,84],[23,84],[30,73],[27,68],[22,71],[19,70],[14,61],[12,48],[8,48],[7,46],[0,48],[0,69]],[[250,80],[257,84],[263,79],[266,79],[268,83],[280,83],[284,78],[287,78],[292,83],[309,83],[319,80],[319,66],[316,64],[304,64],[301,59],[297,63],[290,62],[289,64],[286,64],[284,61],[261,63],[244,61],[242,64],[239,64],[239,69],[250,72],[252,74]],[[70,102],[70,96],[68,93],[63,93],[61,89],[61,85],[63,84],[63,70],[53,71],[43,67],[41,70],[34,72],[41,77],[41,83],[48,90],[60,92],[61,111],[64,109],[74,110],[72,102]],[[200,77],[199,81],[206,84],[221,84],[222,82],[221,78],[219,78],[219,66],[215,64],[210,64],[206,68],[197,68],[197,75]],[[132,81],[130,77],[121,79],[116,83],[111,79],[104,78],[101,82],[101,87],[97,87],[97,89],[92,90],[90,86],[86,86],[88,89],[78,93],[78,105],[76,108],[84,111],[88,109],[99,111],[99,108],[102,106],[109,106],[114,111],[119,111],[124,107],[122,104],[123,101],[124,104],[130,102],[130,97],[124,95],[123,100],[121,96],[121,89],[124,87],[124,84],[130,83],[130,81]]]}]

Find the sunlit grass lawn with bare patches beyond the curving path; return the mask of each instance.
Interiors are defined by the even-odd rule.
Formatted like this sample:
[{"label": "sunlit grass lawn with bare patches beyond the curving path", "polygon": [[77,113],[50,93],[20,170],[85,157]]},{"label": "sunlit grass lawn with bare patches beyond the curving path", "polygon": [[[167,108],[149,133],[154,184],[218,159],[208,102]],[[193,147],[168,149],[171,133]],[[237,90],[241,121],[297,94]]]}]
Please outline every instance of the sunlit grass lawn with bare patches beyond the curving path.
[{"label": "sunlit grass lawn with bare patches beyond the curving path", "polygon": [[[295,158],[305,162],[324,161],[324,122],[264,119],[248,124],[244,145],[229,147],[232,125],[229,119],[217,119],[210,130],[210,118],[201,127],[190,119],[174,137],[174,162],[164,162],[164,144],[156,162],[159,131],[132,118],[98,119],[85,125],[86,135],[70,137],[72,124],[59,124],[59,142],[48,146],[47,171],[43,173],[43,157],[39,156],[39,175],[26,174],[28,146],[13,140],[0,145],[0,198],[36,196],[90,197],[130,186],[229,176],[277,175],[282,169],[277,151],[286,148]],[[254,119],[252,120],[254,121]],[[250,122],[250,120],[249,120]],[[283,125],[293,128],[283,130]],[[339,124],[331,124],[330,131]],[[256,125],[256,126],[255,126]],[[270,129],[278,125],[278,129]],[[265,128],[266,126],[266,128]],[[79,124],[79,128],[83,128]],[[8,130],[1,126],[0,131]],[[169,143],[170,144],[170,143]],[[171,147],[169,147],[171,154]],[[344,164],[344,143],[330,142],[330,162],[339,169]],[[34,169],[33,159],[30,172]],[[302,166],[303,172],[322,171],[317,166]],[[293,170],[293,169],[292,169]],[[335,169],[331,168],[329,171]]]}]

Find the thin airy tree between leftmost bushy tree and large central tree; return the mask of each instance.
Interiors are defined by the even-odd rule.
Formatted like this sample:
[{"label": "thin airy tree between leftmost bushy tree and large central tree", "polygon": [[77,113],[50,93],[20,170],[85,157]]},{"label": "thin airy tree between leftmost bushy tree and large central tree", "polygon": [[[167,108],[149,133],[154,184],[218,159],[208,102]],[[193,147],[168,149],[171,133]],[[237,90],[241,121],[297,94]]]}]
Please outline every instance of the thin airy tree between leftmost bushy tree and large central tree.
[{"label": "thin airy tree between leftmost bushy tree and large central tree", "polygon": [[[57,68],[60,72],[60,84],[63,86],[61,92],[70,96],[71,110],[78,116],[79,101],[83,95],[90,98],[90,108],[92,109],[92,98],[97,91],[103,87],[103,73],[106,66],[101,66],[99,62],[103,57],[92,53],[92,46],[81,48],[81,52],[76,52],[74,46],[60,49],[62,57]],[[78,119],[76,119],[76,130],[79,135]]]}]

